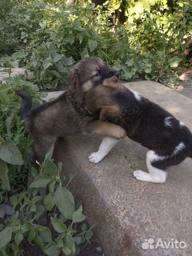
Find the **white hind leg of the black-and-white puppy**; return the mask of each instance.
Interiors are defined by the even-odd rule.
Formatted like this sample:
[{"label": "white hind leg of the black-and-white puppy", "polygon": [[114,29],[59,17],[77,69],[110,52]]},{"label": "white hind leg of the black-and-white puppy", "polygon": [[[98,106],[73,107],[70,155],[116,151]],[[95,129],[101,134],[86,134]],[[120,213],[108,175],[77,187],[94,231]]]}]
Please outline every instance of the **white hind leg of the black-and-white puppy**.
[{"label": "white hind leg of the black-and-white puppy", "polygon": [[146,165],[149,173],[137,170],[133,172],[133,176],[139,181],[164,183],[166,180],[166,172],[151,165],[155,160],[158,161],[158,156],[155,152],[153,150],[148,151],[146,154]]}]

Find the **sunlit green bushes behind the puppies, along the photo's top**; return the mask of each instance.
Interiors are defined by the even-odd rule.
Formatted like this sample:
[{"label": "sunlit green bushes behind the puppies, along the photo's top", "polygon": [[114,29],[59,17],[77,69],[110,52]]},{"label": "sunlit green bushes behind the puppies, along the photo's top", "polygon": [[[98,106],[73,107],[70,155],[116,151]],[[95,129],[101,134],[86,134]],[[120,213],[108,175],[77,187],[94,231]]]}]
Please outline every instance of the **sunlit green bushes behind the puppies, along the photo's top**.
[{"label": "sunlit green bushes behind the puppies, along the photo's top", "polygon": [[[113,26],[110,17],[122,9],[125,22]],[[111,0],[97,7],[90,0],[77,0],[72,7],[56,0],[10,1],[9,6],[2,1],[0,10],[1,55],[26,52],[40,88],[61,87],[71,65],[88,55],[100,56],[124,79],[168,85],[177,82],[178,64],[187,64],[189,0]]]}]

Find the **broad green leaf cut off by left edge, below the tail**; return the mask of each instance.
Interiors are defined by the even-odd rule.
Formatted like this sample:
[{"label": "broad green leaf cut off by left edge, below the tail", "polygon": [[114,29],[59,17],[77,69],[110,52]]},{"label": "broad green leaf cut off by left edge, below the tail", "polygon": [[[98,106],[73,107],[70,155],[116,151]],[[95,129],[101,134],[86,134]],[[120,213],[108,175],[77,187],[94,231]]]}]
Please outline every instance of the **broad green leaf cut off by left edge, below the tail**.
[{"label": "broad green leaf cut off by left edge, below the tail", "polygon": [[23,165],[22,155],[10,139],[0,146],[0,158],[11,165]]}]

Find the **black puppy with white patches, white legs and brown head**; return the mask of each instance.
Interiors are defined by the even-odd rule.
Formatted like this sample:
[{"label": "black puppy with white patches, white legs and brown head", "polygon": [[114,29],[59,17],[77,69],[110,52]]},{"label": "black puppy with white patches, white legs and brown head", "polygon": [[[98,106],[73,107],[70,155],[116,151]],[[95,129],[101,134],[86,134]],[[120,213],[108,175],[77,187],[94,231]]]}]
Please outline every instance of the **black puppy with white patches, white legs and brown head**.
[{"label": "black puppy with white patches, white legs and brown head", "polygon": [[[164,183],[167,167],[180,164],[187,156],[192,158],[189,129],[157,104],[118,84],[115,76],[86,93],[84,113],[87,112],[96,114],[101,121],[120,125],[129,138],[149,149],[146,154],[149,173],[135,171],[137,180]],[[98,152],[90,155],[90,161],[100,162],[117,141],[104,138]]]}]

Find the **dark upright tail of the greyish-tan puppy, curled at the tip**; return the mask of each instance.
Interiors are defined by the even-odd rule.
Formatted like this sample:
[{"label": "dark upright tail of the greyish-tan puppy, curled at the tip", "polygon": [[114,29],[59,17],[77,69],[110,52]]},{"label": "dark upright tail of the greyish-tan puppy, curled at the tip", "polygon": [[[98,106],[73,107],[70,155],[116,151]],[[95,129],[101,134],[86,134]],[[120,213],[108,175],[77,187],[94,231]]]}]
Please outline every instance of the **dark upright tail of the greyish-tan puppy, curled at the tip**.
[{"label": "dark upright tail of the greyish-tan puppy, curled at the tip", "polygon": [[22,98],[21,109],[20,109],[21,119],[26,119],[28,112],[31,110],[32,98],[27,91],[18,90],[15,92],[17,93],[18,96]]}]

